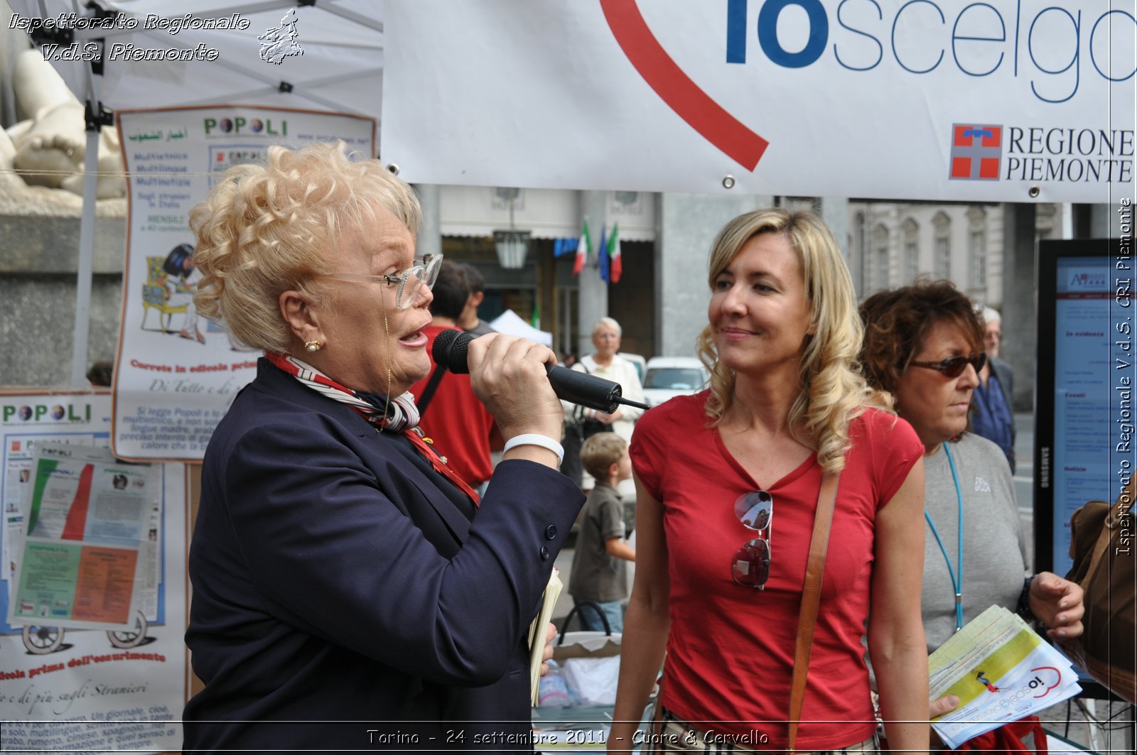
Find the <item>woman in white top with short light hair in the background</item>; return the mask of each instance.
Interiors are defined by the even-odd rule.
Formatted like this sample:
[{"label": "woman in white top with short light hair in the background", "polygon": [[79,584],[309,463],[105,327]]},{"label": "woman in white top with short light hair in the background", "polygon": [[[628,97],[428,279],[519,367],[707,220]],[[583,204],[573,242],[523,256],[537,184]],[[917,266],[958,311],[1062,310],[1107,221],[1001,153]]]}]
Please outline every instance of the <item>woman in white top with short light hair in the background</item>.
[{"label": "woman in white top with short light hair in the background", "polygon": [[[596,351],[582,357],[572,368],[620,383],[624,398],[642,404],[645,401],[644,385],[640,383],[636,365],[617,354],[622,337],[623,329],[620,327],[620,323],[612,317],[600,317],[592,326],[592,346],[596,347]],[[567,401],[562,401],[562,404],[567,423],[565,426],[565,465],[562,470],[578,484],[581,484],[584,490],[591,490],[592,475],[583,471],[580,462],[581,445],[597,432],[614,432],[623,438],[624,442],[630,442],[636,421],[644,414],[644,409],[621,406],[612,414],[607,414]],[[624,492],[630,493],[632,490],[629,489]]]}]

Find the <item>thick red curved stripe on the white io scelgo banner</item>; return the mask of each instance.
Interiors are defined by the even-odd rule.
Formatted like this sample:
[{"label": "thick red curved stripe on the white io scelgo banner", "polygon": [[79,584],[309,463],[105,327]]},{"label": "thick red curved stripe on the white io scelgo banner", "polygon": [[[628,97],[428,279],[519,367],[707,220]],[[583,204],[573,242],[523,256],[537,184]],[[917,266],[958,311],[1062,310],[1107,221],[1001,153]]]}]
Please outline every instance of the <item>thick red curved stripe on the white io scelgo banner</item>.
[{"label": "thick red curved stripe on the white io scelgo banner", "polygon": [[636,0],[600,0],[600,8],[628,60],[659,99],[728,157],[754,171],[770,142],[727,113],[675,65],[648,28]]}]

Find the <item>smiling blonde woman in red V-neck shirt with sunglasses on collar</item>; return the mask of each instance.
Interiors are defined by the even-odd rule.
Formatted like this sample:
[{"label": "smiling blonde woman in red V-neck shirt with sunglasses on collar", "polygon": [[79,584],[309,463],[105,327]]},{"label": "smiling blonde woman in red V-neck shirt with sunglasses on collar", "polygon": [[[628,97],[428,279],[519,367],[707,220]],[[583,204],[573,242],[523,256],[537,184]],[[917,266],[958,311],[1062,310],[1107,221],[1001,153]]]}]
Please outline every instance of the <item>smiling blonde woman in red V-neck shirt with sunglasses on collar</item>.
[{"label": "smiling blonde woman in red V-neck shirt with sunglasses on collar", "polygon": [[868,622],[889,742],[926,752],[923,448],[855,370],[840,250],[812,214],[747,213],[715,239],[708,282],[711,387],[653,408],[632,439],[637,567],[608,748],[634,744],[661,663],[667,749],[788,746],[825,472],[840,476],[796,748],[875,750]]}]

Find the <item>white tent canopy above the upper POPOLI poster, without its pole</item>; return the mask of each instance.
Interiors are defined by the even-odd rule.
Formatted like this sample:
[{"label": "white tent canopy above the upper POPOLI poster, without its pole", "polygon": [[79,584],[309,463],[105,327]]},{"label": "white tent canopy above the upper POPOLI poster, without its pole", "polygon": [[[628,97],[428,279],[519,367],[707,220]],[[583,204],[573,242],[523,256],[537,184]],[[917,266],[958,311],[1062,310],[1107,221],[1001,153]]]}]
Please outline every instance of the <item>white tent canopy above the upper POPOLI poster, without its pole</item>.
[{"label": "white tent canopy above the upper POPOLI poster, without its pole", "polygon": [[[122,14],[114,28],[74,31],[80,48],[86,42],[105,40],[103,72],[93,81],[93,99],[113,110],[232,103],[334,110],[379,118],[383,93],[382,2],[319,0],[300,7],[296,0],[8,1],[22,19],[55,20],[72,13],[86,18]],[[302,55],[285,57],[280,64],[263,60],[262,41],[257,36],[279,27],[291,9],[296,10],[296,41]],[[159,18],[167,20],[157,22]],[[173,24],[189,20],[191,25],[200,25],[208,19],[234,18],[240,26],[247,22],[247,26],[186,27],[171,33]],[[133,28],[118,28],[131,23]],[[191,60],[132,59],[168,50],[204,52]],[[205,59],[208,57],[214,59]],[[89,99],[89,63],[52,60],[51,64],[81,101]]]}]

